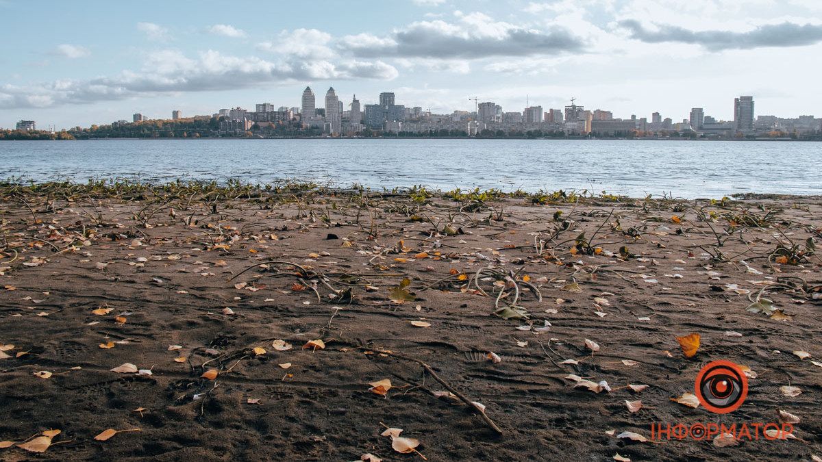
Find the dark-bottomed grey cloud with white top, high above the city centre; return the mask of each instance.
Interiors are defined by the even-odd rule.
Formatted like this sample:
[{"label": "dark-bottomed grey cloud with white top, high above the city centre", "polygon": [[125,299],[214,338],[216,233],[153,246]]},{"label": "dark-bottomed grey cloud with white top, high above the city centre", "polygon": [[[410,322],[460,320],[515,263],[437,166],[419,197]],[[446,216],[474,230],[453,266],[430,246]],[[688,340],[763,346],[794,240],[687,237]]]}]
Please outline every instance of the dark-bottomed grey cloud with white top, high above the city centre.
[{"label": "dark-bottomed grey cloud with white top, high above the city centre", "polygon": [[457,21],[418,21],[389,36],[347,35],[339,46],[363,58],[488,58],[582,51],[584,41],[558,25],[547,30],[455,12]]}]

